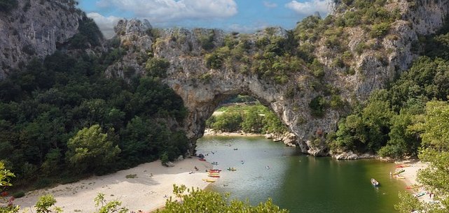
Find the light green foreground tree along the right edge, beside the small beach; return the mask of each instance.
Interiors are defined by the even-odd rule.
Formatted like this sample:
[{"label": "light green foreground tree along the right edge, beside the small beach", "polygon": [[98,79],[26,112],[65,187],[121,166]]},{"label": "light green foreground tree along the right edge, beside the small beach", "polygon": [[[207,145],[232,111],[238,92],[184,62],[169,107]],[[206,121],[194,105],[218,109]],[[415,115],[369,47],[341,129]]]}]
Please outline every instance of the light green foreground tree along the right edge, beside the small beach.
[{"label": "light green foreground tree along the right edge, beside the small beach", "polygon": [[410,195],[401,196],[396,210],[408,213],[412,210],[429,213],[442,213],[449,210],[449,103],[430,101],[426,105],[424,122],[413,127],[422,131],[423,149],[419,154],[421,161],[429,166],[420,170],[417,180],[427,190],[435,193],[436,203],[420,203]]}]

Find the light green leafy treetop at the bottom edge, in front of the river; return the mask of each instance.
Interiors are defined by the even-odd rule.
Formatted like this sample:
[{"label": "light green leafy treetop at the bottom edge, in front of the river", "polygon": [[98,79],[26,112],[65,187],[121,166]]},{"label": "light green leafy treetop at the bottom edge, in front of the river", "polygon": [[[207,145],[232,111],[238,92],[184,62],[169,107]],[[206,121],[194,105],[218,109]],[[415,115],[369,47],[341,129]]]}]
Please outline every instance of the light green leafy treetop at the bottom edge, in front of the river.
[{"label": "light green leafy treetop at the bottom edge, in front of the river", "polygon": [[177,199],[182,200],[178,202],[177,199],[170,197],[163,210],[157,210],[157,213],[171,213],[171,212],[235,212],[235,213],[287,213],[289,211],[282,210],[277,205],[268,200],[265,203],[260,203],[257,206],[251,206],[247,202],[240,200],[228,201],[228,195],[221,195],[213,191],[202,191],[200,189],[186,189],[186,186],[173,186],[173,193]]}]

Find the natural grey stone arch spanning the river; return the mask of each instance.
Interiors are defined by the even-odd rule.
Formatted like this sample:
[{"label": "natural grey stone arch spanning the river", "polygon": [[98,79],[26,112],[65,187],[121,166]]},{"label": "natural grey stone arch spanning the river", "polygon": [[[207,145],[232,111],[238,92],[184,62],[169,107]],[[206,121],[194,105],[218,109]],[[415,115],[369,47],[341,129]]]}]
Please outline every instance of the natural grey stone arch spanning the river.
[{"label": "natural grey stone arch spanning the river", "polygon": [[[340,112],[327,108],[324,116],[313,117],[309,108],[310,101],[322,95],[316,86],[317,79],[303,68],[303,71],[290,72],[289,80],[282,84],[275,83],[270,78],[263,78],[251,71],[239,71],[242,64],[223,63],[219,69],[208,68],[205,64],[205,54],[214,50],[205,50],[200,38],[213,35],[215,47],[221,47],[225,33],[212,29],[158,29],[158,37],[148,34],[151,25],[139,20],[119,22],[116,27],[121,44],[127,47],[123,60],[109,66],[108,75],[127,78],[125,70],[133,70],[137,75],[145,75],[145,64],[139,61],[143,54],[163,58],[170,61],[167,76],[163,79],[184,101],[188,115],[181,124],[191,141],[191,154],[195,142],[205,131],[205,122],[212,115],[221,101],[233,94],[247,94],[258,99],[263,105],[275,112],[286,124],[289,131],[296,135],[296,144],[302,152],[314,155],[327,155],[328,146],[324,142],[324,133],[336,130]],[[273,29],[276,36],[287,34],[284,29]],[[251,35],[249,43],[251,50],[256,51],[256,39],[265,36],[262,33]],[[128,73],[129,74],[129,73]],[[330,73],[326,75],[329,84],[341,80]],[[341,80],[345,82],[345,80]],[[322,84],[322,82],[319,82]],[[321,85],[324,87],[324,85]],[[302,88],[302,89],[299,89]],[[343,94],[343,93],[342,93]],[[342,98],[347,99],[346,93]],[[326,97],[329,99],[329,96]],[[320,134],[317,134],[319,132]],[[313,141],[311,138],[321,140]]]}]

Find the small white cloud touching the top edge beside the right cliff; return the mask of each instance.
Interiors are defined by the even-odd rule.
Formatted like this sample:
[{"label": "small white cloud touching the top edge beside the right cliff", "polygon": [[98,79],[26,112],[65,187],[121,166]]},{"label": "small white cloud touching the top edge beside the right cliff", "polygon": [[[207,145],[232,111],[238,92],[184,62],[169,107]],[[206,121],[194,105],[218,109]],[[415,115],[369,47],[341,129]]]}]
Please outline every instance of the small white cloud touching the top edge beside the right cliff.
[{"label": "small white cloud touching the top edge beside the right cliff", "polygon": [[286,3],[285,6],[301,15],[312,15],[315,12],[319,12],[321,15],[327,15],[329,13],[329,1],[326,0],[310,0],[305,2],[293,0]]}]

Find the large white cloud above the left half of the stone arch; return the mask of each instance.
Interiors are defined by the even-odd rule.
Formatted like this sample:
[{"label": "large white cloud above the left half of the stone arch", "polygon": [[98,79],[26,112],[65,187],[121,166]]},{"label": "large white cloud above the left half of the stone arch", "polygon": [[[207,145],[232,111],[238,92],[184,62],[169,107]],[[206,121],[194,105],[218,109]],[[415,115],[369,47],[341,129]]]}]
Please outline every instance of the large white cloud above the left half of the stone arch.
[{"label": "large white cloud above the left half of the stone arch", "polygon": [[209,20],[237,14],[234,0],[100,0],[97,6],[131,12],[154,23]]}]

